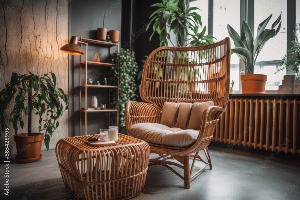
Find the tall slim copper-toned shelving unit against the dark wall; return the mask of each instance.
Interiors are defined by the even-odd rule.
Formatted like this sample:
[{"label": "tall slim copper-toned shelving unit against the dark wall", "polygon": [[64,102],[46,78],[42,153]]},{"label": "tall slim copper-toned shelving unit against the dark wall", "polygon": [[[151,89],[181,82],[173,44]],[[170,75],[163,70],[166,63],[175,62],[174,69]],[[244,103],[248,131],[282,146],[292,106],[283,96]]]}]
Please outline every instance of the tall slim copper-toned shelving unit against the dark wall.
[{"label": "tall slim copper-toned shelving unit against the dark wall", "polygon": [[[113,64],[111,63],[104,63],[104,62],[93,62],[93,61],[88,61],[87,60],[87,55],[88,55],[88,44],[94,44],[94,45],[99,45],[99,46],[103,46],[103,47],[107,47],[108,48],[108,54],[109,54],[109,60],[111,57],[111,47],[113,46],[117,46],[118,48],[118,53],[119,53],[119,42],[118,43],[113,43],[113,42],[107,42],[107,41],[100,41],[100,40],[92,40],[92,39],[88,39],[88,38],[82,38],[80,37],[80,41],[82,43],[80,43],[81,47],[82,44],[85,44],[85,61],[82,62],[81,61],[81,56],[80,56],[80,75],[79,75],[79,87],[80,87],[80,92],[79,92],[79,108],[80,108],[80,121],[79,121],[79,134],[80,136],[82,135],[81,133],[81,129],[82,129],[82,119],[81,119],[81,115],[84,114],[84,125],[85,125],[85,135],[87,134],[87,114],[88,113],[95,113],[95,112],[99,112],[99,113],[103,113],[103,112],[117,112],[117,126],[119,126],[119,79],[118,79],[118,85],[87,85],[87,70],[88,70],[88,66],[92,66],[92,67],[111,67]],[[82,85],[82,67],[85,67],[85,84]],[[118,77],[119,77],[119,59],[118,59]],[[82,98],[82,90],[81,88],[85,88],[84,90],[84,107],[81,106],[81,98]],[[88,93],[88,88],[99,88],[99,89],[108,89],[108,109],[101,109],[101,110],[88,110],[87,107],[87,93]],[[111,109],[110,108],[110,89],[117,89],[117,109]],[[108,124],[110,125],[110,115],[108,118]]]}]

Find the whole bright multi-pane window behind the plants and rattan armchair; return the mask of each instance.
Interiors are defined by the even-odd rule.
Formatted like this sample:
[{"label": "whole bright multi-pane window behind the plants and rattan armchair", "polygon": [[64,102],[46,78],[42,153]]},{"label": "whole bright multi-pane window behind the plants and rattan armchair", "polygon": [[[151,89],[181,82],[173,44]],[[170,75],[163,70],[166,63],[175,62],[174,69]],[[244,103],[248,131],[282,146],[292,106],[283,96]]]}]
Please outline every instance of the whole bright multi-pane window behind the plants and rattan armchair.
[{"label": "whole bright multi-pane window behind the plants and rattan armchair", "polygon": [[[265,20],[270,14],[273,14],[267,29],[271,28],[272,23],[281,14],[281,28],[279,33],[265,43],[259,56],[256,60],[254,73],[267,74],[268,79],[266,82],[266,90],[277,90],[278,85],[281,85],[283,76],[286,75],[286,70],[281,70],[274,74],[279,68],[280,60],[286,55],[287,35],[291,34],[292,30],[287,30],[287,1],[270,1],[270,0],[253,0],[254,7],[247,8],[248,16],[254,16],[254,38],[257,35],[257,26]],[[300,0],[296,1],[296,24],[295,30],[298,33],[300,40]],[[213,2],[213,9],[208,8],[209,2]],[[208,25],[210,20],[213,21],[212,35],[217,38],[217,41],[228,37],[227,24],[231,25],[238,33],[240,33],[241,24],[241,9],[245,9],[245,4],[241,4],[244,0],[197,0],[190,3],[191,7],[199,7],[201,11],[197,11],[202,18],[202,23]],[[253,11],[254,10],[254,11]],[[213,13],[213,14],[212,14]],[[246,15],[246,14],[245,14]],[[211,17],[213,19],[211,19]],[[210,20],[208,20],[210,18]],[[246,20],[246,19],[245,19]],[[250,23],[252,19],[249,19]],[[202,27],[203,27],[202,26]],[[208,34],[208,27],[206,29]],[[234,48],[233,41],[231,40],[231,48]],[[239,90],[239,58],[237,55],[231,55],[231,70],[230,80],[235,82],[233,90]]]}]

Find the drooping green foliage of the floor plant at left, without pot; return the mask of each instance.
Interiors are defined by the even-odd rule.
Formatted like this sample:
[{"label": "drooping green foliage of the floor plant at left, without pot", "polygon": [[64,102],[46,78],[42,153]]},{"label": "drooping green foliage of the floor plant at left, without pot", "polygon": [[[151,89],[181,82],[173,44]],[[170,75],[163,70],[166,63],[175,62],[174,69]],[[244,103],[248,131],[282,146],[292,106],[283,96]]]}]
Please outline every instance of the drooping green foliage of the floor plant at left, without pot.
[{"label": "drooping green foliage of the floor plant at left, without pot", "polygon": [[[31,106],[28,100],[30,90],[33,90]],[[65,103],[65,107],[62,102]],[[22,117],[31,117],[33,112],[39,116],[38,129],[39,132],[45,131],[45,145],[49,150],[50,136],[59,126],[58,118],[68,108],[68,96],[61,88],[56,87],[54,73],[40,76],[31,72],[29,75],[12,73],[10,82],[0,92],[0,133],[4,133],[8,123],[12,123],[17,134],[19,127],[21,130],[24,128]]]}]

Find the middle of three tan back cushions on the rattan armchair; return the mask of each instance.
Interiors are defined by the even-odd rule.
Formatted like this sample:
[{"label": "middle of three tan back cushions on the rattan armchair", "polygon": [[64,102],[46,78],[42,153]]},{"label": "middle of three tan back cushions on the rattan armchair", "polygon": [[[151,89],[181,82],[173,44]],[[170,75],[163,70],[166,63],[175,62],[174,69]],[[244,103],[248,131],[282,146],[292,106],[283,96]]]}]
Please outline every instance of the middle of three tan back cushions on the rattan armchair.
[{"label": "middle of three tan back cushions on the rattan armchair", "polygon": [[187,129],[188,121],[190,119],[190,110],[192,109],[192,103],[179,103],[179,112],[176,122],[176,127],[181,129]]}]

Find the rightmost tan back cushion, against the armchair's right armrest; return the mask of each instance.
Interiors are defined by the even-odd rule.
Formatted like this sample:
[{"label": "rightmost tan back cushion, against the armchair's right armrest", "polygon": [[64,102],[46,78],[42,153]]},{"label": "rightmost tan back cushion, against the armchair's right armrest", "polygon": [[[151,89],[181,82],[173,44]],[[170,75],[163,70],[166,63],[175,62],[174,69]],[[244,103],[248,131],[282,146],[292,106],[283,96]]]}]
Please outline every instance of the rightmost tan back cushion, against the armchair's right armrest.
[{"label": "rightmost tan back cushion, against the armchair's right armrest", "polygon": [[206,108],[213,106],[214,102],[207,101],[201,103],[193,103],[192,110],[190,113],[190,120],[187,129],[200,130],[202,115]]}]

